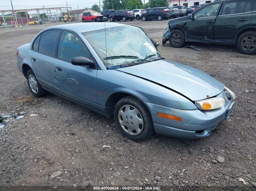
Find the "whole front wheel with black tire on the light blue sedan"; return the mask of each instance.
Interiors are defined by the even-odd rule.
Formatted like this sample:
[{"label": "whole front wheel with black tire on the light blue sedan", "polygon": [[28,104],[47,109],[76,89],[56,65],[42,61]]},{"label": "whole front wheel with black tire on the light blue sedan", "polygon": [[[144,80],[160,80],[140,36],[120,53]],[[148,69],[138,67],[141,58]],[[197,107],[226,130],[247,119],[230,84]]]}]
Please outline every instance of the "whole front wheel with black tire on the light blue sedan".
[{"label": "whole front wheel with black tire on the light blue sedan", "polygon": [[[126,109],[134,110],[135,113],[131,112],[130,114],[126,114]],[[120,114],[119,111],[123,111],[124,114]],[[125,120],[122,115],[127,115],[125,116]],[[116,103],[114,120],[121,134],[133,141],[144,140],[154,133],[153,122],[148,108],[139,99],[133,96],[124,97]],[[126,126],[121,125],[120,121],[123,121],[123,124]],[[137,132],[135,129],[140,132]]]}]

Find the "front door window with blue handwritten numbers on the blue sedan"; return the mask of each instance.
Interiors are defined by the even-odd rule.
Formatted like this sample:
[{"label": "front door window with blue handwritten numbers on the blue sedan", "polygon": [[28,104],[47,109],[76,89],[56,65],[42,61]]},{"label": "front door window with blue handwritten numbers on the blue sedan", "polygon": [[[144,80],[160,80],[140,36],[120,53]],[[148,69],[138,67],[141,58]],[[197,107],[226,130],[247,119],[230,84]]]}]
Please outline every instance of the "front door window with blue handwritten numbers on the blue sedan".
[{"label": "front door window with blue handwritten numbers on the blue sedan", "polygon": [[72,58],[77,56],[90,58],[90,53],[74,33],[63,31],[60,38],[58,57],[71,62]]}]

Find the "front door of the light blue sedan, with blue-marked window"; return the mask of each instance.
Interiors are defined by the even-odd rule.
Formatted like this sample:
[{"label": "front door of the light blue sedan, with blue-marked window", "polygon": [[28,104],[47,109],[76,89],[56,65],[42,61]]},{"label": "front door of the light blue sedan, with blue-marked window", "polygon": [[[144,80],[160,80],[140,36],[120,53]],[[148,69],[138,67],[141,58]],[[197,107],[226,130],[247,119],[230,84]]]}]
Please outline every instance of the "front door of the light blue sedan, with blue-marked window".
[{"label": "front door of the light blue sedan, with blue-marked window", "polygon": [[57,93],[79,103],[93,107],[96,103],[97,70],[71,64],[77,56],[94,60],[82,40],[74,33],[63,31],[55,58],[55,84]]}]

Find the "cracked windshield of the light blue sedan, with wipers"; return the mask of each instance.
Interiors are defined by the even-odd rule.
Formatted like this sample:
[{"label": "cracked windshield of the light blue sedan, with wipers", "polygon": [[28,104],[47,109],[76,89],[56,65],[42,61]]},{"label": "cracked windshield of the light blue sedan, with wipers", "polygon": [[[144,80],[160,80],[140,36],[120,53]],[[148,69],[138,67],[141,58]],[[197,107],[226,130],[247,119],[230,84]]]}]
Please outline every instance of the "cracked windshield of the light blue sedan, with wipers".
[{"label": "cracked windshield of the light blue sedan, with wipers", "polygon": [[[106,34],[106,36],[105,36]],[[83,33],[106,67],[160,56],[148,36],[135,26],[119,26]]]}]

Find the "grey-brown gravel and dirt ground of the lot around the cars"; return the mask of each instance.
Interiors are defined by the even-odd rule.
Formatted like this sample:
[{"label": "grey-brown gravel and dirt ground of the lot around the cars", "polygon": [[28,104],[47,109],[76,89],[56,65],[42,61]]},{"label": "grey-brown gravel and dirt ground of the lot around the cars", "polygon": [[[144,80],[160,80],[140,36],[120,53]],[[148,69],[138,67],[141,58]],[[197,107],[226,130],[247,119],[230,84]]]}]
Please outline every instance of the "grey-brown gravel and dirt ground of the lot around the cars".
[{"label": "grey-brown gravel and dirt ground of the lot around the cars", "polygon": [[[161,56],[203,70],[231,89],[236,100],[227,122],[222,121],[205,139],[153,135],[142,142],[128,140],[118,132],[113,118],[50,93],[36,98],[29,91],[16,66],[16,49],[48,26],[0,30],[0,115],[27,112],[0,129],[0,186],[255,189],[256,55],[243,55],[226,45],[188,44],[200,51],[172,48],[169,42],[164,47],[167,22],[125,24],[142,27],[158,41]],[[217,156],[225,162],[217,162]],[[51,180],[54,172],[58,177]]]}]

